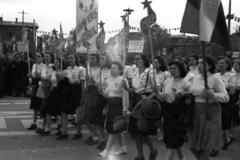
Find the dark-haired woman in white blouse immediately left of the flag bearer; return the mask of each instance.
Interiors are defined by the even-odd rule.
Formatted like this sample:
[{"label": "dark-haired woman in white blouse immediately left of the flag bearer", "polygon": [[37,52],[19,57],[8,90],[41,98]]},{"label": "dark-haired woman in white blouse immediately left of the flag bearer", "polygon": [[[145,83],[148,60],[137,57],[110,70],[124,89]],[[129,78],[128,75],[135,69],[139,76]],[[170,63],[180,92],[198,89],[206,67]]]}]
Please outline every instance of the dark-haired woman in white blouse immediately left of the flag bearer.
[{"label": "dark-haired woman in white blouse immediately left of the flag bearer", "polygon": [[163,139],[167,148],[166,160],[173,160],[177,152],[180,160],[185,160],[183,152],[183,143],[186,132],[182,126],[178,125],[180,118],[179,108],[176,104],[176,98],[190,89],[190,83],[184,80],[187,75],[183,62],[175,60],[169,63],[171,79],[165,81],[162,92],[158,92],[157,97],[165,102],[163,118]]}]

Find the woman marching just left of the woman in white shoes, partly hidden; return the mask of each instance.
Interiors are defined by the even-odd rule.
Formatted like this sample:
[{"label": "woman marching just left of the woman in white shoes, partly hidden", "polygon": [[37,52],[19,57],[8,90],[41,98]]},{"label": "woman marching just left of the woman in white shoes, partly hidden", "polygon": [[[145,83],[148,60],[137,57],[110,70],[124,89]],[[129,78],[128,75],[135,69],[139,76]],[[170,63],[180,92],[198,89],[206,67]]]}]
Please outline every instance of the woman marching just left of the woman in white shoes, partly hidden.
[{"label": "woman marching just left of the woman in white shoes, partly hidden", "polygon": [[[106,89],[106,81],[111,77],[111,65],[112,65],[112,58],[109,54],[104,54],[101,59],[101,84],[99,84],[100,76],[98,77],[98,81],[95,82],[95,85],[103,90]],[[103,97],[100,93],[97,97],[97,104],[95,108],[92,108],[92,119],[90,123],[94,125],[99,133],[99,143],[97,148],[100,150],[104,150],[106,147],[107,136],[104,130],[104,123],[105,123],[105,115],[103,114],[103,109],[107,106],[107,99]]]}]

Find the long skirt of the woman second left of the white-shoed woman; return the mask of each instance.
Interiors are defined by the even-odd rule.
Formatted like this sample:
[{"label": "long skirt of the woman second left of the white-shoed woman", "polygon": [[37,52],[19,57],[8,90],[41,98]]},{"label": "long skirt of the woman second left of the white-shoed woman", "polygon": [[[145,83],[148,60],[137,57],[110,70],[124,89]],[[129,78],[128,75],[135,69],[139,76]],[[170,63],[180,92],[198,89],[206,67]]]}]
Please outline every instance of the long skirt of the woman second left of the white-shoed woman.
[{"label": "long skirt of the woman second left of the white-shoed woman", "polygon": [[94,118],[94,109],[97,106],[98,91],[95,86],[88,86],[88,90],[84,92],[83,109],[81,119],[91,122]]}]

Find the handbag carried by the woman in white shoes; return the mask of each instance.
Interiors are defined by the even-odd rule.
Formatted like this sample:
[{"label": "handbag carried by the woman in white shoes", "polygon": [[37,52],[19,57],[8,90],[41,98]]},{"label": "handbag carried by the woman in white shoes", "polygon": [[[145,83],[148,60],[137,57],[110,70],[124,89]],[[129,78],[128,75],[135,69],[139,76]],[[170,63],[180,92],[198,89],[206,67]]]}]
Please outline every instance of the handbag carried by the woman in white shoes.
[{"label": "handbag carried by the woman in white shoes", "polygon": [[118,116],[114,118],[113,130],[114,132],[121,132],[127,129],[129,117]]}]

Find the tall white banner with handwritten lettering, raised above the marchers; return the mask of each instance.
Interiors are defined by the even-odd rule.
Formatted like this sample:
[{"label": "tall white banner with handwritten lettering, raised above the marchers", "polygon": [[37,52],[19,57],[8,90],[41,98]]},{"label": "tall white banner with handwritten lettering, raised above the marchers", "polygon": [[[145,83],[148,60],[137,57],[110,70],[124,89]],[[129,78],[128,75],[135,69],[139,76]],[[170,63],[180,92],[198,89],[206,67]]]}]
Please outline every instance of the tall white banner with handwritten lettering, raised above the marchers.
[{"label": "tall white banner with handwritten lettering, raised above the marchers", "polygon": [[97,53],[98,0],[76,0],[77,2],[77,52],[87,53],[86,44],[90,43],[89,53]]}]

